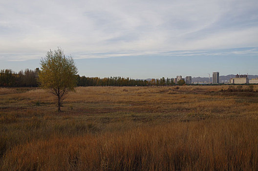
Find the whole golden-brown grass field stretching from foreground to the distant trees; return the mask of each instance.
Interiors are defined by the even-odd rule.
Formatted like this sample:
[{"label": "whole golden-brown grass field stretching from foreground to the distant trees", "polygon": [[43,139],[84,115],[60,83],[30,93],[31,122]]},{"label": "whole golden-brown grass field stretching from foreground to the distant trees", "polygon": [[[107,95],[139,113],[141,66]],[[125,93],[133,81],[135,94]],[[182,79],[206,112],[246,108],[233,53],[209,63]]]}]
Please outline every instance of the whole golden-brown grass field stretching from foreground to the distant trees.
[{"label": "whole golden-brown grass field stretching from foreground to the distant trees", "polygon": [[258,171],[258,85],[228,88],[77,87],[60,113],[0,88],[0,170]]}]

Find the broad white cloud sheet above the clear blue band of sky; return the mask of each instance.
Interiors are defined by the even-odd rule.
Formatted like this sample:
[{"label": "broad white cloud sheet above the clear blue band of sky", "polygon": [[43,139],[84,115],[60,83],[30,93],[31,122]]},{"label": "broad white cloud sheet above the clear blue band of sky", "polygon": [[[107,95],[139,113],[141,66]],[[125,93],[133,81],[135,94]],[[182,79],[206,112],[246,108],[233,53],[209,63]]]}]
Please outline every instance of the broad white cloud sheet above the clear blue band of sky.
[{"label": "broad white cloud sheet above the clear blue band of sky", "polygon": [[0,60],[57,46],[86,54],[75,58],[254,47],[257,9],[256,0],[1,1]]}]

